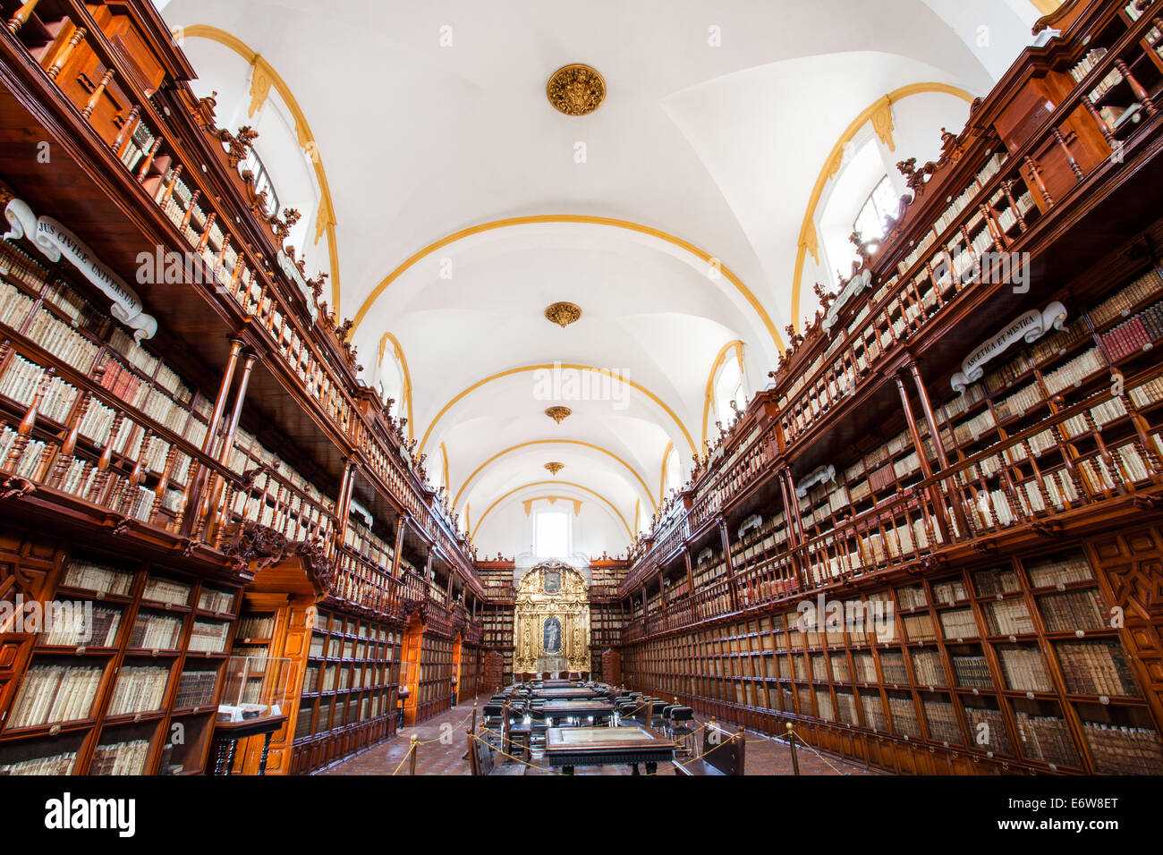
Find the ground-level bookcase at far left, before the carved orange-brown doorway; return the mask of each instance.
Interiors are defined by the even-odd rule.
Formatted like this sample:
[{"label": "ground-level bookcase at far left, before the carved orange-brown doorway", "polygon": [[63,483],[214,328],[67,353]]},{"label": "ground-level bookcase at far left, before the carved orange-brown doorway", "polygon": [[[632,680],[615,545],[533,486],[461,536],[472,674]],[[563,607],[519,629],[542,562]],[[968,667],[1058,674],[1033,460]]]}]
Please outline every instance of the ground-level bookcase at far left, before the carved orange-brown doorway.
[{"label": "ground-level bookcase at far left, before the carved orange-brown doorway", "polygon": [[[197,735],[213,715],[237,589],[73,548],[51,590],[28,668],[0,711],[0,765],[8,774],[174,771],[180,736],[172,734]],[[215,619],[199,618],[193,603],[213,603]],[[215,643],[200,644],[200,624]],[[207,750],[205,740],[181,743],[181,768],[200,771]]]}]

